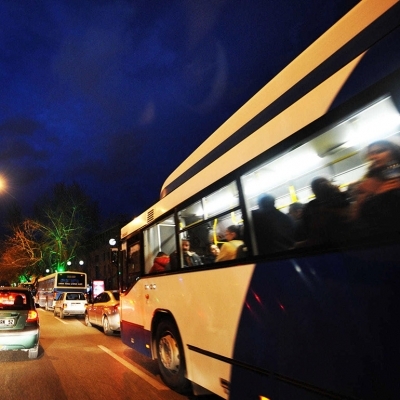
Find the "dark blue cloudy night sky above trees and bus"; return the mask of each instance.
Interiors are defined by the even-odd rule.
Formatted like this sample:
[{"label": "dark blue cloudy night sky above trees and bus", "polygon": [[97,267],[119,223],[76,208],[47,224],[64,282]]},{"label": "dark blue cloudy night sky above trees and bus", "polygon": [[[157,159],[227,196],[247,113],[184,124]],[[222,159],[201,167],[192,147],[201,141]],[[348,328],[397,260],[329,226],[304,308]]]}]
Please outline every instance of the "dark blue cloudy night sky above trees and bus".
[{"label": "dark blue cloudy night sky above trees and bus", "polygon": [[143,212],[357,2],[0,0],[0,213],[74,180],[105,216]]}]

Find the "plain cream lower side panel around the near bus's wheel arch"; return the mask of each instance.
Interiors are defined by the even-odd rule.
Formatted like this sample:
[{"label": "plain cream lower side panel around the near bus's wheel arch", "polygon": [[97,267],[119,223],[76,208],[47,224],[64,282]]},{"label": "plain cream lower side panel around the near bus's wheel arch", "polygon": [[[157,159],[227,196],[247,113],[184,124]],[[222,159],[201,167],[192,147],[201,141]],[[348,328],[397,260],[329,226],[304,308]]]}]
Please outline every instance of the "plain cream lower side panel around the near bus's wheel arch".
[{"label": "plain cream lower side panel around the near bus's wheel arch", "polygon": [[182,338],[187,378],[226,397],[220,379],[229,382],[230,364],[191,351],[188,345],[232,358],[254,267],[254,264],[238,265],[144,277],[121,297],[122,320],[150,331],[158,309],[170,312]]}]

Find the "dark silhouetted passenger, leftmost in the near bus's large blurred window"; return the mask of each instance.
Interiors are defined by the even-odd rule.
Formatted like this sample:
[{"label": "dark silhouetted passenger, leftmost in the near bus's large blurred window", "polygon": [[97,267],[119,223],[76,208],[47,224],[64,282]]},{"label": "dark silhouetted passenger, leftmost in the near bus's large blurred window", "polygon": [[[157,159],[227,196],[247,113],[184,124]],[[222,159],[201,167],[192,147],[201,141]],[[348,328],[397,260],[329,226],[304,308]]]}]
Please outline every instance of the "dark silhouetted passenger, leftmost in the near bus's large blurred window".
[{"label": "dark silhouetted passenger, leftmost in the near bus's large blurred window", "polygon": [[258,254],[271,254],[294,246],[294,222],[275,208],[275,197],[258,197],[258,210],[252,212]]}]

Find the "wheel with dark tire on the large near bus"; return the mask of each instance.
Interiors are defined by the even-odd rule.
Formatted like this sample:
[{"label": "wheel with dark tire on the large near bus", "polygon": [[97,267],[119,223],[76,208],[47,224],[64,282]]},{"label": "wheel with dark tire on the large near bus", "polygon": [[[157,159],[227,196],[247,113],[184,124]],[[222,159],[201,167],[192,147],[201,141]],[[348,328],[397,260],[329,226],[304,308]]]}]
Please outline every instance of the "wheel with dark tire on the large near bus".
[{"label": "wheel with dark tire on the large near bus", "polygon": [[178,393],[190,392],[191,383],[186,378],[186,362],[178,328],[165,319],[156,331],[157,361],[164,383]]}]

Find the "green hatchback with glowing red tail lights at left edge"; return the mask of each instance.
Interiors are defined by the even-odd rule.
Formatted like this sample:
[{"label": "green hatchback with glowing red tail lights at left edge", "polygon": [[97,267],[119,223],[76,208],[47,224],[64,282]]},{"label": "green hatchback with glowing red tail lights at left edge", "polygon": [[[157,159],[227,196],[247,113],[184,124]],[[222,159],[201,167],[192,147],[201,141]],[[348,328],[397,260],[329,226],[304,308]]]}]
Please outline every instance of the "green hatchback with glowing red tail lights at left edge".
[{"label": "green hatchback with glowing red tail lights at left edge", "polygon": [[39,314],[31,292],[0,287],[0,351],[22,350],[28,358],[37,358],[39,337]]}]

